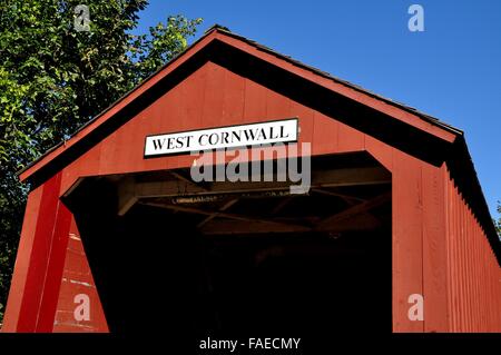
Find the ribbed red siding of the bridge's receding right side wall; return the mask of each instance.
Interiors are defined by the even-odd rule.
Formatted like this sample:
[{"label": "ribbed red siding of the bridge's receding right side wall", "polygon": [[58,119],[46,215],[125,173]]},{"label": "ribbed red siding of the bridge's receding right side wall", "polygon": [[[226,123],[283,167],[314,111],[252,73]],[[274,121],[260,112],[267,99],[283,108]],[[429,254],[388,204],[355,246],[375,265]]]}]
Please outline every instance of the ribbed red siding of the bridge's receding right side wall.
[{"label": "ribbed red siding of the bridge's receding right side wall", "polygon": [[501,332],[501,269],[484,231],[449,172],[444,185],[449,328],[451,332]]}]

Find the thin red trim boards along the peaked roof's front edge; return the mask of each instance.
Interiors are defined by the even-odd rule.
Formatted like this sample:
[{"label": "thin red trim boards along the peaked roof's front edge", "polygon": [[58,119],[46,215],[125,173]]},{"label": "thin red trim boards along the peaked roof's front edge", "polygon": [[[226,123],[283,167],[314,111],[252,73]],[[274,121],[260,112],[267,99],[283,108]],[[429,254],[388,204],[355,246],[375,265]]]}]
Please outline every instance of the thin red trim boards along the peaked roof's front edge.
[{"label": "thin red trim boards along the peaked roof's front edge", "polygon": [[261,59],[267,60],[273,65],[279,65],[285,70],[288,70],[295,75],[299,75],[305,79],[313,80],[317,85],[324,86],[331,90],[334,90],[350,99],[360,101],[361,103],[371,106],[372,108],[380,110],[393,118],[401,120],[407,125],[412,125],[419,129],[436,136],[448,142],[454,141],[458,135],[462,135],[462,131],[450,125],[446,125],[439,119],[420,112],[416,109],[395,102],[391,99],[375,95],[369,90],[365,90],[358,86],[350,83],[348,81],[341,80],[316,68],[306,66],[291,57],[281,55],[265,46],[258,45],[245,37],[235,34],[220,26],[214,26],[208,29],[204,36],[189,46],[178,57],[166,63],[150,77],[145,79],[140,85],[134,88],[131,91],[124,95],[120,99],[114,102],[105,111],[96,116],[84,125],[70,139],[60,142],[53,148],[49,149],[46,154],[39,157],[37,160],[24,167],[19,171],[21,181],[27,180],[32,175],[37,174],[40,169],[47,167],[51,161],[71,148],[75,144],[86,139],[86,137],[95,130],[97,127],[106,122],[109,118],[116,115],[118,111],[126,108],[145,91],[154,87],[159,80],[168,76],[176,68],[188,61],[196,56],[205,47],[214,41],[222,41],[226,45],[233,46],[239,50],[245,51],[247,55],[257,56]]}]

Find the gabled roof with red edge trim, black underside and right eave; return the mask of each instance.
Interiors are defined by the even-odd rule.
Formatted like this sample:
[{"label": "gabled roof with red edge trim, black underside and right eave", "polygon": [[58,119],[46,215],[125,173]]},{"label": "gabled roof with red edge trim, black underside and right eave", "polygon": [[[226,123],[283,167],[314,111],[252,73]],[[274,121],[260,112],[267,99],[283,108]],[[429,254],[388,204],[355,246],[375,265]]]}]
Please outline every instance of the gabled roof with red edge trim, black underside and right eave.
[{"label": "gabled roof with red edge trim, black underside and right eave", "polygon": [[[501,260],[501,250],[498,247],[500,243],[495,228],[468,151],[463,132],[460,129],[446,125],[430,115],[420,112],[412,107],[381,97],[322,70],[306,66],[217,24],[207,30],[200,39],[189,46],[178,57],[166,63],[135,89],[127,92],[109,108],[82,126],[69,140],[51,148],[19,171],[20,179],[22,181],[27,179],[37,180],[38,184],[41,184],[55,170],[78,158],[96,144],[96,141],[92,141],[92,135],[96,131],[101,129],[109,132],[109,122],[114,117],[118,117],[121,111],[129,107],[137,106],[141,97],[151,91],[150,89],[154,89],[163,79],[168,78],[170,73],[176,72],[177,69],[183,68],[185,65],[187,67],[190,61],[196,61],[198,57],[203,56],[203,52],[216,52],[217,57],[217,51],[222,50],[222,48],[234,50],[233,53],[240,56],[240,58],[244,56],[245,58],[266,63],[268,67],[279,68],[279,70],[294,78],[301,78],[305,82],[314,85],[315,88],[321,88],[324,90],[323,92],[333,92],[338,97],[345,98],[345,101],[356,102],[358,107],[370,108],[373,112],[379,114],[380,117],[389,117],[392,120],[386,120],[386,122],[395,122],[401,128],[412,128],[414,136],[416,136],[416,132],[420,134],[419,137],[415,137],[415,140],[420,140],[423,137],[432,137],[435,146],[433,148],[429,147],[429,150],[432,150],[433,155],[440,155],[440,158],[436,159],[439,164],[448,162],[452,176],[461,185],[465,200],[482,224],[498,259]],[[233,59],[225,58],[224,60],[228,62],[228,60]],[[356,107],[350,106],[346,109],[356,109]],[[374,124],[371,125],[373,125],[371,127],[373,131],[384,131],[387,128],[381,129],[381,127],[374,127]],[[385,137],[389,137],[389,135]],[[413,147],[414,151],[422,149],[421,146],[423,145],[421,142],[418,147]],[[446,152],[441,150],[446,150]],[[59,160],[59,164],[56,164],[57,160]]]}]

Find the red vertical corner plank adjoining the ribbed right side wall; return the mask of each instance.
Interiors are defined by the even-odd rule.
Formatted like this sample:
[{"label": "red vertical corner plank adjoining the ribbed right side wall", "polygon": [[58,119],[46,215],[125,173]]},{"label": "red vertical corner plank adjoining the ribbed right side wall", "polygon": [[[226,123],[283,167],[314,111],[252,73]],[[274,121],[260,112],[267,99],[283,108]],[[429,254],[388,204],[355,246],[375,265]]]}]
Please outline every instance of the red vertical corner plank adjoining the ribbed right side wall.
[{"label": "red vertical corner plank adjoining the ribbed right side wall", "polygon": [[424,332],[448,331],[443,170],[422,164]]}]

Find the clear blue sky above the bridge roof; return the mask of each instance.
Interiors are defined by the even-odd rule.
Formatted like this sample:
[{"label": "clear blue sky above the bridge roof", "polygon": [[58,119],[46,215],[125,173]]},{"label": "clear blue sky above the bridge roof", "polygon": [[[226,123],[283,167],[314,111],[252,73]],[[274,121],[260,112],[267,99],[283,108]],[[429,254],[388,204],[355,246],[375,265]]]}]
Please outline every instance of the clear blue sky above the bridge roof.
[{"label": "clear blue sky above the bridge roof", "polygon": [[[407,9],[424,8],[424,32]],[[483,193],[501,200],[501,1],[150,0],[135,32],[169,14],[219,23],[465,132]]]}]

